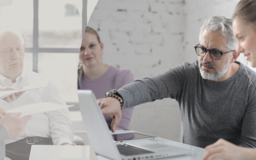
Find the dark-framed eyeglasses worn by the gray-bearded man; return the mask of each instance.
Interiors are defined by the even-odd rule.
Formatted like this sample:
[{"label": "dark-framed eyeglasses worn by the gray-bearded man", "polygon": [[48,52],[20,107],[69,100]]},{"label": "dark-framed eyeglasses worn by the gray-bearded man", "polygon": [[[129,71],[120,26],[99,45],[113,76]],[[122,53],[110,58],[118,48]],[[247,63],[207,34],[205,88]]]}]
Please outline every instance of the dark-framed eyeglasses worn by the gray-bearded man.
[{"label": "dark-framed eyeglasses worn by the gray-bearded man", "polygon": [[[200,44],[198,44],[198,45],[200,45]],[[196,54],[198,56],[205,56],[207,51],[209,51],[209,54],[210,54],[211,58],[214,59],[214,60],[220,60],[222,54],[226,54],[228,52],[236,51],[236,50],[232,50],[232,51],[228,51],[228,52],[220,52],[220,51],[217,51],[215,49],[208,50],[208,49],[205,49],[204,47],[200,47],[198,45],[195,46]]]}]

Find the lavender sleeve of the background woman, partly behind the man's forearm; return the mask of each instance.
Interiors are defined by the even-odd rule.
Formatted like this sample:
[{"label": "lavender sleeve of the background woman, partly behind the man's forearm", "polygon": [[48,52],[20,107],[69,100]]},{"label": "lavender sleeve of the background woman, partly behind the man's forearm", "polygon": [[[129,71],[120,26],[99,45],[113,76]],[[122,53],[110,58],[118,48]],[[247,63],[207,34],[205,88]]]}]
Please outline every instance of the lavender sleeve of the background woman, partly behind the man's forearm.
[{"label": "lavender sleeve of the background woman, partly behind the man's forearm", "polygon": [[[121,88],[126,84],[131,83],[134,80],[134,76],[130,70],[121,70],[116,75],[116,86],[115,88]],[[133,107],[122,109],[122,118],[118,124],[117,129],[128,129],[131,117],[132,117]]]}]

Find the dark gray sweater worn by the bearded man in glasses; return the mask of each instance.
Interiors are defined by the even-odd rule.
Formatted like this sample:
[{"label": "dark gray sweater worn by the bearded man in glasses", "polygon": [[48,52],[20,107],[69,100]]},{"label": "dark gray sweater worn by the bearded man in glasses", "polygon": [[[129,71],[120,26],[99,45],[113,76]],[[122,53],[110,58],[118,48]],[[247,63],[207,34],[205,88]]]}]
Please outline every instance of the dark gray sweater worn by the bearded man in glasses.
[{"label": "dark gray sweater worn by the bearded man in glasses", "polygon": [[247,68],[252,84],[240,64],[234,76],[216,82],[203,79],[199,69],[196,60],[127,84],[118,90],[124,99],[123,108],[157,99],[176,99],[184,143],[204,148],[223,138],[256,148],[256,73]]}]

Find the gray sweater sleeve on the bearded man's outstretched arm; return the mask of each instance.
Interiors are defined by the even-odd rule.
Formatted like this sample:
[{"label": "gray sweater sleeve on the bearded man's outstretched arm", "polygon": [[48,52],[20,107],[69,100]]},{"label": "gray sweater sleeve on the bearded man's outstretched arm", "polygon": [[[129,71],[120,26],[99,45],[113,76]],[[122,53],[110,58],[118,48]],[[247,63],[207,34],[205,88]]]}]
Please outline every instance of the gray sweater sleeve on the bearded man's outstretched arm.
[{"label": "gray sweater sleeve on the bearded man's outstretched arm", "polygon": [[117,90],[124,100],[123,108],[164,98],[179,99],[186,79],[185,66],[171,68],[163,74],[133,81]]}]

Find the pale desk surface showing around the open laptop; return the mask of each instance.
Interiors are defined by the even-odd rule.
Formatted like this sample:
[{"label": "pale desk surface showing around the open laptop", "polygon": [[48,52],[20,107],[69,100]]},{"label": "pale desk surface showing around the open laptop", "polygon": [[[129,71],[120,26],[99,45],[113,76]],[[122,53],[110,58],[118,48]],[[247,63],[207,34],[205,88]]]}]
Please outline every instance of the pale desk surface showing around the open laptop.
[{"label": "pale desk surface showing around the open laptop", "polygon": [[[116,131],[113,134],[121,134],[121,133],[126,133],[126,132],[136,132],[136,131]],[[180,148],[186,148],[190,151],[190,153],[188,155],[185,156],[176,156],[176,157],[166,157],[166,158],[162,158],[163,160],[166,159],[172,159],[172,160],[201,160],[202,157],[204,156],[204,148],[199,148],[199,147],[195,147],[195,146],[191,146],[191,145],[186,145],[184,143],[179,143],[177,141],[171,141],[171,140],[166,140],[164,138],[157,138],[153,141],[159,141],[161,143],[165,143],[167,145],[173,145],[176,147],[180,147]],[[107,160],[106,157],[102,157],[102,156],[97,156],[99,160]]]}]

